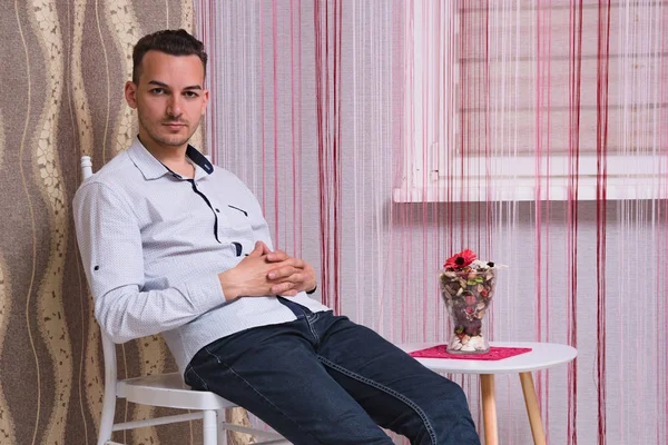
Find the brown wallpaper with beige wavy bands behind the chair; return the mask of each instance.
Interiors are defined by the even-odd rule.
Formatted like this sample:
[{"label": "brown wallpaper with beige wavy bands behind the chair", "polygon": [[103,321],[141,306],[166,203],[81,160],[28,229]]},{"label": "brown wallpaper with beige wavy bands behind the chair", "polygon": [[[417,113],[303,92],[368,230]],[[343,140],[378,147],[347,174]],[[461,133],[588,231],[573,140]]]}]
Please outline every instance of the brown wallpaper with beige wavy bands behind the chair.
[{"label": "brown wallpaper with beige wavy bands behind the chair", "polygon": [[[0,3],[0,443],[94,444],[102,400],[99,330],[70,202],[79,158],[98,169],[132,138],[122,86],[131,48],[193,29],[188,0]],[[118,347],[119,375],[175,366],[158,337]],[[117,417],[149,413],[125,403]],[[155,414],[163,414],[160,409]],[[199,425],[117,433],[128,444],[198,444]]]}]

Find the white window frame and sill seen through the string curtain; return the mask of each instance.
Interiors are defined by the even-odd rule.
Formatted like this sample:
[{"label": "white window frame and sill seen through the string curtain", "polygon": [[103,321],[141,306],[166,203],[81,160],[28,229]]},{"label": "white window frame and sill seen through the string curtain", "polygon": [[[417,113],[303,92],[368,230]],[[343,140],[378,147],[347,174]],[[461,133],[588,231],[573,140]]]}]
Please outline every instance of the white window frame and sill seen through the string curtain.
[{"label": "white window frame and sill seen through the string curtain", "polygon": [[[403,171],[393,190],[395,202],[668,198],[668,147],[656,141],[651,151],[605,157],[588,150],[580,151],[577,158],[562,152],[543,154],[537,161],[536,154],[509,155],[512,149],[489,157],[462,156],[459,67],[445,75],[446,82],[442,83],[453,93],[440,96],[438,102],[426,93],[434,89],[430,77],[434,68],[443,76],[443,59],[459,60],[459,14],[453,17],[454,44],[445,44],[443,34],[436,33],[429,37],[433,41],[426,41],[426,33],[412,33],[414,27],[424,22],[425,14],[433,12],[425,8],[425,1],[406,3],[404,30],[410,57],[405,65],[404,103],[409,108],[404,123],[412,131],[404,131]],[[441,16],[443,20],[442,10]],[[435,41],[434,36],[441,41]],[[434,55],[434,48],[440,48],[441,53]],[[434,131],[439,126],[445,131]],[[660,131],[658,125],[655,128]],[[443,145],[454,149],[442,150]],[[603,164],[599,166],[599,161]]]}]

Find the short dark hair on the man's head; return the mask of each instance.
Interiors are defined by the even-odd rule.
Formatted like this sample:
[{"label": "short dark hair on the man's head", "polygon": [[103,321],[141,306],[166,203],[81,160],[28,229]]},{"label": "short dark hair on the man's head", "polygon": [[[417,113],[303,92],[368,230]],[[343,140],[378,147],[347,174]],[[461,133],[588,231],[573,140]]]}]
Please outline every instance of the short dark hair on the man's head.
[{"label": "short dark hair on the man's head", "polygon": [[141,60],[148,51],[160,51],[169,56],[197,56],[206,73],[207,56],[204,43],[184,29],[165,29],[144,36],[132,50],[132,82],[139,83]]}]

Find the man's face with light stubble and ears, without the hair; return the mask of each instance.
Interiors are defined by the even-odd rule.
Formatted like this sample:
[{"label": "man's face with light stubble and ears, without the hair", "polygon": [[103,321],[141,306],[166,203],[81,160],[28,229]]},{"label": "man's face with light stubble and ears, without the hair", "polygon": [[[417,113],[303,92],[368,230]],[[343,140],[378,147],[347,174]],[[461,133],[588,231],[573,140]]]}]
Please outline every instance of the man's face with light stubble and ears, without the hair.
[{"label": "man's face with light stubble and ears, without the hair", "polygon": [[204,67],[197,56],[148,51],[139,85],[126,83],[128,105],[137,110],[139,139],[149,150],[185,147],[206,111]]}]

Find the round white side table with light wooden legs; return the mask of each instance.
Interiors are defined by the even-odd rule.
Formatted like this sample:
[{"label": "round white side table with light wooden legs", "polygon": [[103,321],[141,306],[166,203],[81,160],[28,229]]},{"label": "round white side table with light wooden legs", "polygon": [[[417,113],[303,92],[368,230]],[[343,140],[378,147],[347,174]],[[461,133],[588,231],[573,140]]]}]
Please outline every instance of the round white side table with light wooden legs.
[{"label": "round white side table with light wooden legs", "polygon": [[[399,345],[406,353],[425,349],[441,343],[412,343]],[[480,392],[482,394],[482,419],[484,424],[485,445],[498,445],[497,432],[497,400],[494,396],[494,374],[520,375],[524,404],[531,425],[531,434],[536,445],[546,445],[546,433],[540,418],[540,409],[536,397],[533,377],[531,372],[550,368],[562,363],[569,363],[578,355],[578,350],[568,345],[556,343],[531,342],[490,342],[490,346],[500,347],[528,347],[531,352],[515,355],[500,360],[471,360],[455,358],[422,358],[415,359],[428,368],[440,373],[479,374]]]}]

